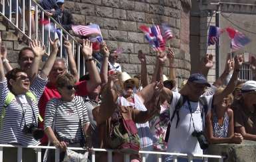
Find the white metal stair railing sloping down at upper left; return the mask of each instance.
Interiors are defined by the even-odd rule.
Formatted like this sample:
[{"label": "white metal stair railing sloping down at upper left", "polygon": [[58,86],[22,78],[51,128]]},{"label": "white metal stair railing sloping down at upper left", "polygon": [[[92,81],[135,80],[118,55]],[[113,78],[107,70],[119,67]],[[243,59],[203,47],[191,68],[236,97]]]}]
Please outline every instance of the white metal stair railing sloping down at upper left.
[{"label": "white metal stair railing sloping down at upper left", "polygon": [[[12,2],[15,1],[16,4],[16,9],[15,9],[15,22],[12,20]],[[32,22],[32,14],[29,14],[29,22],[27,22],[27,32],[25,31],[25,1],[29,1],[29,7],[27,10],[31,9],[31,6],[35,6],[35,22]],[[45,42],[45,37],[49,38],[51,36],[51,30],[48,28],[47,33],[45,33],[45,26],[39,24],[40,19],[45,19],[47,11],[45,11],[39,3],[35,0],[21,0],[21,3],[23,5],[19,5],[19,0],[1,0],[2,3],[2,10],[0,12],[0,15],[7,20],[12,26],[15,27],[16,30],[21,32],[27,39],[33,40],[34,38],[36,40],[40,40],[43,44],[47,45],[49,42]],[[23,6],[23,7],[22,7]],[[9,12],[5,13],[6,7],[9,8]],[[19,14],[19,7],[21,7],[21,14]],[[21,17],[19,19],[19,17]],[[22,22],[19,22],[22,20]],[[80,43],[74,36],[72,36],[68,31],[66,31],[57,20],[53,19],[53,17],[48,17],[49,22],[53,23],[53,26],[55,28],[60,28],[61,29],[61,38],[60,38],[60,56],[63,57],[63,34],[66,35],[66,40],[71,41],[72,43],[72,52],[73,54],[76,52],[76,66],[78,69],[78,75],[81,73],[82,75],[85,74],[85,60],[83,58],[82,60],[82,65],[80,65]],[[35,33],[32,33],[32,26],[31,24],[35,23]],[[21,25],[22,24],[22,25]],[[39,25],[41,28],[39,28]],[[56,38],[55,34],[55,38]],[[47,39],[48,40],[48,39]],[[48,46],[47,48],[47,53],[50,54],[51,52],[51,47]],[[75,55],[75,54],[74,54]],[[66,60],[68,58],[66,57]],[[67,60],[68,61],[68,60]],[[82,67],[82,68],[81,68]]]}]

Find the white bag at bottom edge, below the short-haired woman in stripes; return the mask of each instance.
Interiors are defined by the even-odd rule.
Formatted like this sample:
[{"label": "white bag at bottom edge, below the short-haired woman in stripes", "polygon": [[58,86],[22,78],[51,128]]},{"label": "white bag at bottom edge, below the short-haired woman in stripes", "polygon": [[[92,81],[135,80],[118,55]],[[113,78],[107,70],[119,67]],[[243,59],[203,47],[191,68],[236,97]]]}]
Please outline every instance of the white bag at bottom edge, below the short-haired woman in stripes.
[{"label": "white bag at bottom edge, below the short-haired woman in stripes", "polygon": [[87,162],[88,152],[85,153],[76,153],[71,149],[66,149],[63,162]]}]

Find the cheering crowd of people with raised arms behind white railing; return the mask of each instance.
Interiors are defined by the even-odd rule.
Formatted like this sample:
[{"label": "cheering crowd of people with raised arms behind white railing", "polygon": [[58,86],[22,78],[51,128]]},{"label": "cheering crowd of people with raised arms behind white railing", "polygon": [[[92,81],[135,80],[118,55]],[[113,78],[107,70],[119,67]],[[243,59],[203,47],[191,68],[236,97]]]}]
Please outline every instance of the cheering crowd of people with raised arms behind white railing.
[{"label": "cheering crowd of people with raised arms behind white railing", "polygon": [[[55,16],[63,0],[41,4],[48,16]],[[64,13],[63,13],[64,14]],[[64,16],[66,17],[66,16]],[[64,19],[68,21],[71,19]],[[70,22],[72,23],[72,22]],[[68,26],[66,26],[68,29]],[[243,56],[227,57],[225,70],[207,83],[213,56],[205,54],[200,70],[192,73],[182,87],[176,84],[175,54],[172,48],[156,52],[156,66],[150,80],[147,55],[138,52],[140,75],[131,77],[117,63],[118,52],[100,44],[100,69],[94,63],[90,40],[83,40],[81,53],[88,75],[79,78],[72,44],[64,40],[66,58],[59,58],[59,40],[51,40],[51,54],[40,69],[45,46],[37,40],[20,50],[13,68],[8,51],[0,50],[0,143],[54,145],[63,161],[68,147],[114,149],[113,161],[141,161],[138,151],[203,154],[213,143],[256,141],[256,81],[239,80]],[[164,65],[169,62],[169,76]],[[250,63],[256,67],[256,58]],[[232,77],[225,85],[227,75]],[[4,148],[3,161],[16,161],[15,149]],[[84,153],[84,151],[78,151]],[[43,150],[45,161],[55,161],[53,150]],[[96,161],[106,161],[96,153]],[[35,161],[34,149],[24,149],[24,161]],[[90,158],[89,158],[90,159]],[[165,156],[165,161],[173,161]],[[147,154],[146,161],[156,161]],[[178,158],[178,161],[188,161]],[[201,161],[201,160],[193,160]]]}]

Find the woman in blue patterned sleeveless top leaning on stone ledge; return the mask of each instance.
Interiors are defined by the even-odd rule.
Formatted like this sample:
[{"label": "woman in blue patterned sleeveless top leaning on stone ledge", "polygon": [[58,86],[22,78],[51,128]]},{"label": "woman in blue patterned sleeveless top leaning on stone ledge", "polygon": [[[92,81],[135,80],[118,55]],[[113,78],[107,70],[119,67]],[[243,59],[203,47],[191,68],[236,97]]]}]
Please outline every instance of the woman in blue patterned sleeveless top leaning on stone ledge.
[{"label": "woman in blue patterned sleeveless top leaning on stone ledge", "polygon": [[[215,95],[224,90],[219,88]],[[211,112],[206,117],[207,138],[210,143],[241,143],[241,134],[234,134],[233,110],[230,106],[233,95],[229,94],[221,102],[213,105]]]}]

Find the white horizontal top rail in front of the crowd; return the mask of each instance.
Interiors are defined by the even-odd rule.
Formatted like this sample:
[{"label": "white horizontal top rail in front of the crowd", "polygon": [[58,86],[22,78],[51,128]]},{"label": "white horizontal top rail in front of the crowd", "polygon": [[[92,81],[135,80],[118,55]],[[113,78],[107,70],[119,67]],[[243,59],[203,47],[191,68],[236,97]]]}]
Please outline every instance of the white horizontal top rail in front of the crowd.
[{"label": "white horizontal top rail in front of the crowd", "polygon": [[[0,147],[23,147],[23,148],[33,148],[33,149],[56,149],[55,146],[43,146],[43,145],[10,145],[10,144],[0,144]],[[85,150],[82,147],[68,147],[68,149],[72,150]],[[98,149],[93,148],[93,151],[112,151],[115,152],[117,150],[114,149]],[[158,155],[176,155],[176,156],[190,156],[187,153],[170,153],[170,152],[158,152],[158,151],[139,151],[139,153],[148,153],[148,154],[158,154]],[[221,155],[201,155],[201,154],[192,154],[193,157],[208,157],[208,158],[215,158],[215,159],[222,159],[223,157]]]}]

